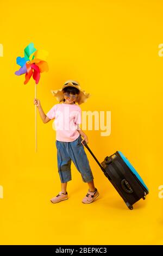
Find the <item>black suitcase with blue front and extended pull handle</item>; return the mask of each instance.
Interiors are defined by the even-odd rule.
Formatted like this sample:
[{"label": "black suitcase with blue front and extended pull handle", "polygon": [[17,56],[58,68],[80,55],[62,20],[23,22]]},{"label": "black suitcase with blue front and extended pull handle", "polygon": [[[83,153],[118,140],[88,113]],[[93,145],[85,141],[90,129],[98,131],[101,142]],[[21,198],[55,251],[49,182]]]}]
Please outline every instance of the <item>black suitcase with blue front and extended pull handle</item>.
[{"label": "black suitcase with blue front and extended pull handle", "polygon": [[143,182],[140,175],[121,151],[116,151],[115,154],[109,157],[106,156],[104,161],[99,163],[85,141],[83,144],[90,151],[105,176],[115,187],[130,210],[133,210],[133,204],[141,198],[143,200],[146,198],[149,190],[145,182]]}]

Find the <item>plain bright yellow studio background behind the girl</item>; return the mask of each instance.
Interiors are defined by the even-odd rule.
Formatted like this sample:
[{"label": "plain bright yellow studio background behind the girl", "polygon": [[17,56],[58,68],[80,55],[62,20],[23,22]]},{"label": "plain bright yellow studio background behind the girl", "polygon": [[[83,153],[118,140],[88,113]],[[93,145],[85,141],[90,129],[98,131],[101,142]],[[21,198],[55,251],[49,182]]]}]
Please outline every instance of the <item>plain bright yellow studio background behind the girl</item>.
[{"label": "plain bright yellow studio background behind the girl", "polygon": [[[162,1],[1,1],[1,244],[162,244]],[[57,101],[51,89],[78,80],[91,93],[83,111],[111,111],[111,135],[86,131],[99,161],[121,150],[149,187],[130,211],[89,152],[100,197],[87,192],[72,166],[69,199],[60,191],[55,132],[39,114],[35,153],[34,81],[17,77],[16,57],[30,42],[49,52],[49,72],[37,95],[45,113]]]}]

